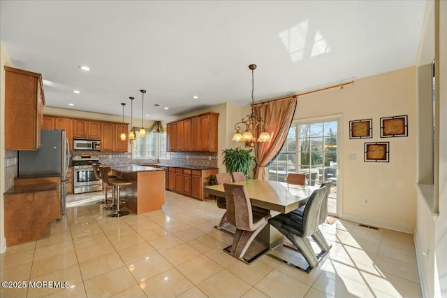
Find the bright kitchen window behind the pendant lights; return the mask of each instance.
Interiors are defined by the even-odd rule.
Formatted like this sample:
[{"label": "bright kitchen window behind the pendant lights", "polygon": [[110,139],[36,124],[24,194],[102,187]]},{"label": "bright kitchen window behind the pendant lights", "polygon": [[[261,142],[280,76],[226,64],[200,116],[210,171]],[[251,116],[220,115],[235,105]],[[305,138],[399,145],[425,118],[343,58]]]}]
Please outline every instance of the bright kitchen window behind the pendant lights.
[{"label": "bright kitchen window behind the pendant lights", "polygon": [[132,143],[132,159],[169,159],[166,152],[166,132],[148,132],[144,138],[135,131]]}]

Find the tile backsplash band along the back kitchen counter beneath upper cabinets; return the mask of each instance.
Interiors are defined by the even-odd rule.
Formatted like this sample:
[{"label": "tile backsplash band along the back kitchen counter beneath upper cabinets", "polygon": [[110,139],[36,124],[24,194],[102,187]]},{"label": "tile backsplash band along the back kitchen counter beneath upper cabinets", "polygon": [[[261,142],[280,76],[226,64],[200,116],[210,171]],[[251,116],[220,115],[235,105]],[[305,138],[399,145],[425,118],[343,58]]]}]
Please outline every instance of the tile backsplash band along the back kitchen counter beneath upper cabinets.
[{"label": "tile backsplash band along the back kitchen counter beneath upper cabinets", "polygon": [[71,155],[97,155],[101,164],[147,164],[157,163],[176,166],[217,166],[217,152],[171,152],[170,159],[132,159],[129,152],[72,151]]}]

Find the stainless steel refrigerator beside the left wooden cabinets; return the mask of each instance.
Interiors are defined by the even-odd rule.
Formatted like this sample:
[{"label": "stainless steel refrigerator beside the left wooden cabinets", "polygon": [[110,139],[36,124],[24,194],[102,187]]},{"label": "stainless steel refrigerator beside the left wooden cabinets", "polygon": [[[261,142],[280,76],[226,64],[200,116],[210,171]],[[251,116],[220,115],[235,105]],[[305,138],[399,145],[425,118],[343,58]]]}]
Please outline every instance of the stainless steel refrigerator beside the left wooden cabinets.
[{"label": "stainless steel refrigerator beside the left wooden cabinets", "polygon": [[42,130],[42,147],[35,151],[19,151],[19,177],[61,176],[61,213],[66,213],[66,176],[70,147],[65,129]]}]

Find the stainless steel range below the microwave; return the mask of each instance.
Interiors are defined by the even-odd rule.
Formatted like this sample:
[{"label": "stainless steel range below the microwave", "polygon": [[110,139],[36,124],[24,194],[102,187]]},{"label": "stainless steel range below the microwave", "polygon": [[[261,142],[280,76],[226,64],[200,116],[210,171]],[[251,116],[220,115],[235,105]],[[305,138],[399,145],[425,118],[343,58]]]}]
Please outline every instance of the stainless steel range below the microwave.
[{"label": "stainless steel range below the microwave", "polygon": [[73,165],[73,193],[97,192],[103,190],[103,180],[96,179],[93,164],[99,164],[98,155],[75,155]]}]

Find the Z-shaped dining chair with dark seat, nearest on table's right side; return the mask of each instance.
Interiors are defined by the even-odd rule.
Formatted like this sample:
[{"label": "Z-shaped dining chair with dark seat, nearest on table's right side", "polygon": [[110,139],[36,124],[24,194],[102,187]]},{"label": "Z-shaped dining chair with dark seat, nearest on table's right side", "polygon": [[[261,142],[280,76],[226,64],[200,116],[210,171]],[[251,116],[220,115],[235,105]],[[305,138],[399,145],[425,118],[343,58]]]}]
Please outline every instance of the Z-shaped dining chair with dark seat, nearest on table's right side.
[{"label": "Z-shaped dining chair with dark seat, nearest on table's right side", "polygon": [[[307,264],[309,264],[309,267],[304,269],[295,264],[288,264],[307,273],[316,267],[318,261],[321,260],[321,257],[323,257],[329,249],[323,234],[321,234],[320,230],[318,229],[321,218],[321,204],[323,204],[325,193],[325,186],[314,190],[309,197],[309,201],[307,201],[302,216],[298,215],[298,213],[295,212],[298,209],[295,209],[295,211],[286,214],[281,213],[268,220],[270,225],[278,229],[281,234],[286,236],[287,239],[293,243],[293,245],[305,258]],[[309,242],[309,236],[315,237],[314,240],[316,239],[316,242],[320,248],[321,246],[325,247],[323,243],[326,243],[326,247],[328,248],[326,250],[321,250],[321,252],[316,255],[314,248],[312,248],[312,244]],[[279,259],[272,254],[270,254],[270,256]]]}]

